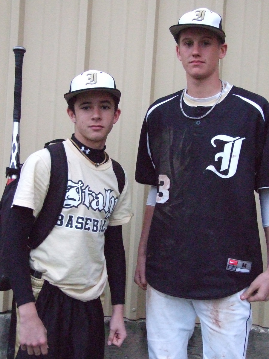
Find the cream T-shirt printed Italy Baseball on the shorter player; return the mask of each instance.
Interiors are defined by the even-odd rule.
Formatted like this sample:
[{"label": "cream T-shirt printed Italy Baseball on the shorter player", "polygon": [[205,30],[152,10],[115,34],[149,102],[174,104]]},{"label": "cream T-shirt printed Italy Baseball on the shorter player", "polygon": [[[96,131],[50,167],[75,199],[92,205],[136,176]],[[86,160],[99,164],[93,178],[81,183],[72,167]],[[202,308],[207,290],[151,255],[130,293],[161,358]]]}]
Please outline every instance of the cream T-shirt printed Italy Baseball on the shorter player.
[{"label": "cream T-shirt printed Italy Baseball on the shorter player", "polygon": [[[111,159],[95,167],[70,140],[63,144],[68,163],[65,202],[52,232],[30,252],[30,266],[70,297],[87,301],[104,290],[104,232],[108,224],[122,225],[131,219],[131,196],[127,179],[119,194]],[[47,149],[28,157],[14,205],[32,208],[34,216],[38,215],[48,190],[50,167]]]}]

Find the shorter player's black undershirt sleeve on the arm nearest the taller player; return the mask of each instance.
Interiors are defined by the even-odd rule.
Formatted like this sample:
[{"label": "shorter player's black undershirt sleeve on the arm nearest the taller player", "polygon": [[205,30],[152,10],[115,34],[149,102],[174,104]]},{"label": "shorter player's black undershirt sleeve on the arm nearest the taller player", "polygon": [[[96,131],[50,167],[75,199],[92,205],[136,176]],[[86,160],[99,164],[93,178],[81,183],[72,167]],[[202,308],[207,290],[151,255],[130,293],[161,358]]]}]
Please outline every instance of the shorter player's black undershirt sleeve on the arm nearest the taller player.
[{"label": "shorter player's black undershirt sleeve on the arm nearest the taller player", "polygon": [[126,263],[121,225],[107,227],[104,254],[107,262],[111,303],[112,305],[124,304]]}]

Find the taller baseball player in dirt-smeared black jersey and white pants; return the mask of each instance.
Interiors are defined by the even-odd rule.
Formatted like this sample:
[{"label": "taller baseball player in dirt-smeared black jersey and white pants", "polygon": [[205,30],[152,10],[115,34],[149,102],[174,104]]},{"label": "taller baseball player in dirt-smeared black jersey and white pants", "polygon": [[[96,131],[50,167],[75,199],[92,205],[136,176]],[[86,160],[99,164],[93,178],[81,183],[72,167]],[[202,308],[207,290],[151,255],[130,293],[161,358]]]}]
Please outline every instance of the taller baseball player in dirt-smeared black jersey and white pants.
[{"label": "taller baseball player in dirt-smeared black jersey and white pants", "polygon": [[187,359],[198,316],[204,359],[243,359],[251,302],[269,299],[254,197],[268,248],[269,103],[220,80],[220,15],[190,11],[170,32],[187,87],[148,109],[136,166],[151,185],[135,273],[149,358]]}]

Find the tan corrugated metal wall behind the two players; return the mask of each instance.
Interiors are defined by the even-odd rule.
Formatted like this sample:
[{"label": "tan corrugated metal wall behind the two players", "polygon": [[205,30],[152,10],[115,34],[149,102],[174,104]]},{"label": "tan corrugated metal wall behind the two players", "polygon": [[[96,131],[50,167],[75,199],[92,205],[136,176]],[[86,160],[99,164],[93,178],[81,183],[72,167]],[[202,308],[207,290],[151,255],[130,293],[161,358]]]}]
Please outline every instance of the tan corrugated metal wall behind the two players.
[{"label": "tan corrugated metal wall behind the two players", "polygon": [[[221,77],[269,98],[268,0],[0,0],[1,191],[12,137],[14,46],[27,49],[22,162],[48,140],[72,133],[63,99],[72,77],[89,68],[104,70],[114,76],[122,91],[122,115],[108,138],[107,150],[126,168],[133,191],[135,216],[124,228],[125,316],[129,319],[145,317],[145,293],[133,283],[147,192],[134,180],[141,123],[152,101],[185,87],[169,27],[181,14],[199,6],[223,17],[228,54],[221,64]],[[264,238],[263,250],[265,254]],[[0,311],[9,306],[10,295],[0,293]],[[268,304],[253,307],[254,323],[269,327]],[[108,289],[104,309],[109,315]]]}]

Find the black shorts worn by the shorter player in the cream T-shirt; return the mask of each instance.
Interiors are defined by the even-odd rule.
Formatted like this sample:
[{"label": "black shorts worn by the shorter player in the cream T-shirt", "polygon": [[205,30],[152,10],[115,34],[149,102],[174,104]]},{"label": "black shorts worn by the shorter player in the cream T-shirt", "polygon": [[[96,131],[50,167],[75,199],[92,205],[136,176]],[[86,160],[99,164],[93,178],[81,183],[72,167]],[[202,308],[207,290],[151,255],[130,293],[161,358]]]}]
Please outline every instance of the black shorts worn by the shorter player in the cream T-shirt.
[{"label": "black shorts worn by the shorter player in the cream T-shirt", "polygon": [[[100,298],[81,302],[46,280],[36,301],[39,318],[47,329],[46,359],[103,359],[104,313]],[[16,359],[33,359],[19,348]]]}]

